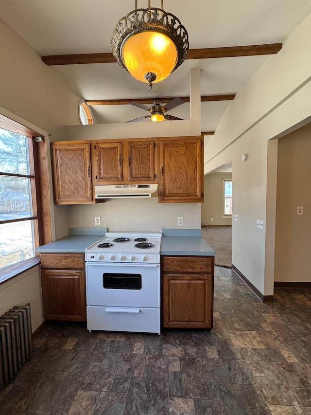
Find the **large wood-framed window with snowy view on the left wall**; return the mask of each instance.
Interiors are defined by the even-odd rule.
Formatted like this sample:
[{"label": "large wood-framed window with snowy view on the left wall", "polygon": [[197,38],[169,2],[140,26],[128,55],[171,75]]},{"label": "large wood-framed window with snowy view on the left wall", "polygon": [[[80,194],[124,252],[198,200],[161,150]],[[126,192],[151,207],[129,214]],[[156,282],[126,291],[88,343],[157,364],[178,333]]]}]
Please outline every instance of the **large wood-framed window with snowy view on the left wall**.
[{"label": "large wood-framed window with snowy view on the left wall", "polygon": [[35,132],[15,124],[0,116],[0,269],[34,257],[42,240]]}]

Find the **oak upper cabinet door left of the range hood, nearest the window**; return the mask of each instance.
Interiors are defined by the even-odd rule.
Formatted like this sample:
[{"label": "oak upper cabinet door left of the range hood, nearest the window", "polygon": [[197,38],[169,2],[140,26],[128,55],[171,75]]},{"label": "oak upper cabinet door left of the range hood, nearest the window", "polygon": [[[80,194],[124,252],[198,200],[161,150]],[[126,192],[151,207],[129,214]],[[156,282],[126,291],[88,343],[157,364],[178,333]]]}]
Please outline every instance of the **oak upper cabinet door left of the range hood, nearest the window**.
[{"label": "oak upper cabinet door left of the range hood, nearest the window", "polygon": [[90,142],[54,142],[52,166],[56,204],[94,203]]}]

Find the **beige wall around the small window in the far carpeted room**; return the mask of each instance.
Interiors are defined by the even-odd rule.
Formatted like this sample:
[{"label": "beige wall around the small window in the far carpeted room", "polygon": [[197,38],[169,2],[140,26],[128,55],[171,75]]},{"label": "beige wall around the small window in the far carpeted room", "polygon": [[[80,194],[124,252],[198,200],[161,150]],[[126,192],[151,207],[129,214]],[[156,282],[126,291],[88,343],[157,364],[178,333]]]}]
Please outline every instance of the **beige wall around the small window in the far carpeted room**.
[{"label": "beige wall around the small window in the far carpeted room", "polygon": [[[204,176],[202,222],[208,225],[231,225],[231,217],[223,217],[223,179],[231,180],[231,173],[211,173]],[[213,218],[213,221],[210,218]]]}]

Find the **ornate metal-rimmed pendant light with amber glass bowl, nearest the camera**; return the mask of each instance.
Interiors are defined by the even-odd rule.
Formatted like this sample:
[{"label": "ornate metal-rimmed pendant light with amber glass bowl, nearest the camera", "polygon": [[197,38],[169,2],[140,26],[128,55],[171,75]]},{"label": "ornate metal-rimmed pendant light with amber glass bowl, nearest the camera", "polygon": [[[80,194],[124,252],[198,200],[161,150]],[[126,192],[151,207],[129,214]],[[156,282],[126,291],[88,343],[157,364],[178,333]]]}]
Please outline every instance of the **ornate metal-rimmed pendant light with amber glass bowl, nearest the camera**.
[{"label": "ornate metal-rimmed pendant light with amber glass bowl, nearest the camera", "polygon": [[112,53],[134,78],[149,84],[166,78],[184,61],[189,50],[188,33],[171,13],[150,7],[121,18],[111,36]]}]

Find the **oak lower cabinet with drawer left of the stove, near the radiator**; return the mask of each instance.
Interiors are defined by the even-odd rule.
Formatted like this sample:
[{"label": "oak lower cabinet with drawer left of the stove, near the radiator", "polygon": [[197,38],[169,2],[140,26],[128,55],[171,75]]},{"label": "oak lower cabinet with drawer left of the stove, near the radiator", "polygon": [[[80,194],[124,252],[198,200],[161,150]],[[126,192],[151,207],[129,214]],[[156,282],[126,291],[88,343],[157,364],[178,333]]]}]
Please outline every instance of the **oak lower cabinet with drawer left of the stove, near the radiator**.
[{"label": "oak lower cabinet with drawer left of the stove, near the radiator", "polygon": [[85,322],[84,253],[42,253],[40,260],[44,318]]}]

